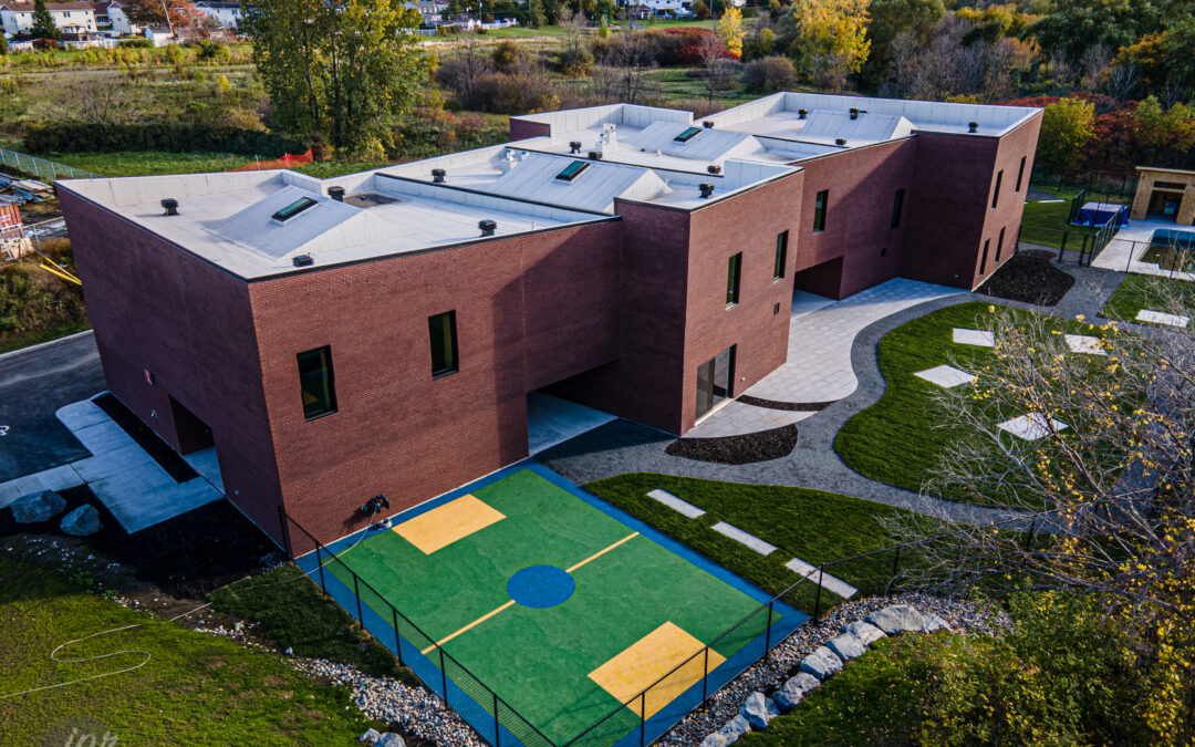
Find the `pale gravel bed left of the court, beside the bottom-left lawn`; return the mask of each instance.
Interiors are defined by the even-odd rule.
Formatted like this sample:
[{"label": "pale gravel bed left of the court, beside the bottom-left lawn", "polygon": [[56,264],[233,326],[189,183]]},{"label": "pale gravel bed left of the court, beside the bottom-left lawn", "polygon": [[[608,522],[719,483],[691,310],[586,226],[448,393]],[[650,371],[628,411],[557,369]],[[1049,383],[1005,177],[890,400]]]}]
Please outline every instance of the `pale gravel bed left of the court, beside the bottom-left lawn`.
[{"label": "pale gravel bed left of the court, beside the bottom-left lawn", "polygon": [[484,747],[477,735],[455,711],[424,690],[398,680],[370,676],[356,667],[325,659],[295,659],[295,667],[317,678],[348,685],[357,709],[375,721],[394,724],[402,731],[433,745]]}]

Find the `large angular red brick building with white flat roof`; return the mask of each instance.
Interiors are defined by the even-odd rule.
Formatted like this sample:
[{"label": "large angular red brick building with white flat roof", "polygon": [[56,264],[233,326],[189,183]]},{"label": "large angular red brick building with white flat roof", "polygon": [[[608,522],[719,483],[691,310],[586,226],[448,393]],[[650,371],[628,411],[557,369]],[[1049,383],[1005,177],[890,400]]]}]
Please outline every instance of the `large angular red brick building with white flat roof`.
[{"label": "large angular red brick building with white flat roof", "polygon": [[684,434],[785,361],[795,289],[974,288],[1012,253],[1040,122],[611,105],[335,179],[59,194],[111,391],[180,452],[214,445],[276,539],[284,507],[330,540],[375,495],[398,512],[526,457],[529,392]]}]

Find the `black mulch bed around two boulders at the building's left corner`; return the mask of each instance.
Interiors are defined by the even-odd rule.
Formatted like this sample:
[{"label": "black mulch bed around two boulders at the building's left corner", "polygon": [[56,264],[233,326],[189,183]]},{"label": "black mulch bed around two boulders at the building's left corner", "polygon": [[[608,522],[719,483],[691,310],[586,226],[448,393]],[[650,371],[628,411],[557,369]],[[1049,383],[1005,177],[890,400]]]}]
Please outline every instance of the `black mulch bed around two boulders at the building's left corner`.
[{"label": "black mulch bed around two boulders at the building's left corner", "polygon": [[60,490],[66,512],[41,523],[17,523],[12,509],[0,509],[0,537],[50,534],[69,537],[59,528],[62,516],[84,503],[99,512],[103,525],[90,537],[73,538],[122,565],[136,577],[173,596],[202,599],[212,589],[238,581],[262,568],[266,558],[282,559],[277,546],[225,500],[129,534],[116,516],[80,485]]}]

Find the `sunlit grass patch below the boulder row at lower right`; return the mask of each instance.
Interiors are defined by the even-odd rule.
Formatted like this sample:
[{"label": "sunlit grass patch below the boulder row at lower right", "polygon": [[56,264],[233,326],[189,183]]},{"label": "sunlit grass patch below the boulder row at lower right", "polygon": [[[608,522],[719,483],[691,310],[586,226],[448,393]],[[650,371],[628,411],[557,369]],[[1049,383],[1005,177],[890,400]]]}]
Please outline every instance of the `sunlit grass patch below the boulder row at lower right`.
[{"label": "sunlit grass patch below the boulder row at lower right", "polygon": [[881,638],[796,709],[774,720],[766,730],[746,734],[739,743],[920,743],[923,708],[942,674],[938,662],[954,649],[974,644],[948,632]]}]

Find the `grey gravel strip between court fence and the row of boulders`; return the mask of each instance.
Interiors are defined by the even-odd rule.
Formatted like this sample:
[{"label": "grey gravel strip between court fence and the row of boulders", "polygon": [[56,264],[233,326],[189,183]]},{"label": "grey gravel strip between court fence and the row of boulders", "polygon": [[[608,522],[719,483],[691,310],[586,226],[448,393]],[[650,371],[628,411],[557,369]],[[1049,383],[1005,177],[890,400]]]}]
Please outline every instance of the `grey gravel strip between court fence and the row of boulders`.
[{"label": "grey gravel strip between court fence and the row of boulders", "polygon": [[739,714],[747,696],[755,691],[771,693],[780,687],[795,673],[802,659],[839,635],[840,626],[863,619],[888,605],[901,604],[942,617],[951,630],[960,633],[993,635],[1009,625],[1006,616],[995,614],[974,602],[913,592],[842,602],[822,618],[820,625],[814,625],[810,620],[798,627],[784,643],[772,649],[767,663],[760,661],[749,667],[706,700],[705,705],[682,718],[656,745],[699,745],[707,734],[717,731]]}]

